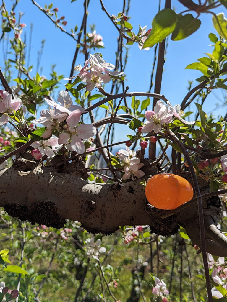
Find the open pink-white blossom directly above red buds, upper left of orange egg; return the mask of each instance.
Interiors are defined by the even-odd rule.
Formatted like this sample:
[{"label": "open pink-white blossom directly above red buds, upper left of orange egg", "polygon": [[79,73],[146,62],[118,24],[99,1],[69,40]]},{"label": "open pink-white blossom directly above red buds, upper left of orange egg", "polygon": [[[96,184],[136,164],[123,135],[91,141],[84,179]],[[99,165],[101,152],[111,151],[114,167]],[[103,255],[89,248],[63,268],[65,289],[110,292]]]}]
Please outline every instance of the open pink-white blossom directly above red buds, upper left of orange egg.
[{"label": "open pink-white blossom directly above red buds, upper left of orange egg", "polygon": [[154,110],[146,111],[145,117],[147,121],[141,132],[149,133],[154,131],[158,133],[162,129],[162,124],[171,122],[173,114],[169,112],[167,105],[163,101],[157,101]]}]

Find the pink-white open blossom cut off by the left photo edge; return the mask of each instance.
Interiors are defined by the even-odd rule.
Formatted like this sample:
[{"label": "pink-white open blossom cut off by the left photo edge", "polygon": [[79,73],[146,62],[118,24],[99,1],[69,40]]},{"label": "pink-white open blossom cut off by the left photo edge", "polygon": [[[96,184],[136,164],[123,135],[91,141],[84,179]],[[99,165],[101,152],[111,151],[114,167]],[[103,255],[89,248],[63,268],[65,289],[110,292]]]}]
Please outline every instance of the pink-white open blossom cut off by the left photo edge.
[{"label": "pink-white open blossom cut off by the left photo edge", "polygon": [[[6,91],[0,90],[0,113],[13,114],[21,106],[21,99],[12,99],[12,94],[8,94]],[[0,126],[5,125],[9,120],[8,115],[3,114],[0,118]]]}]

